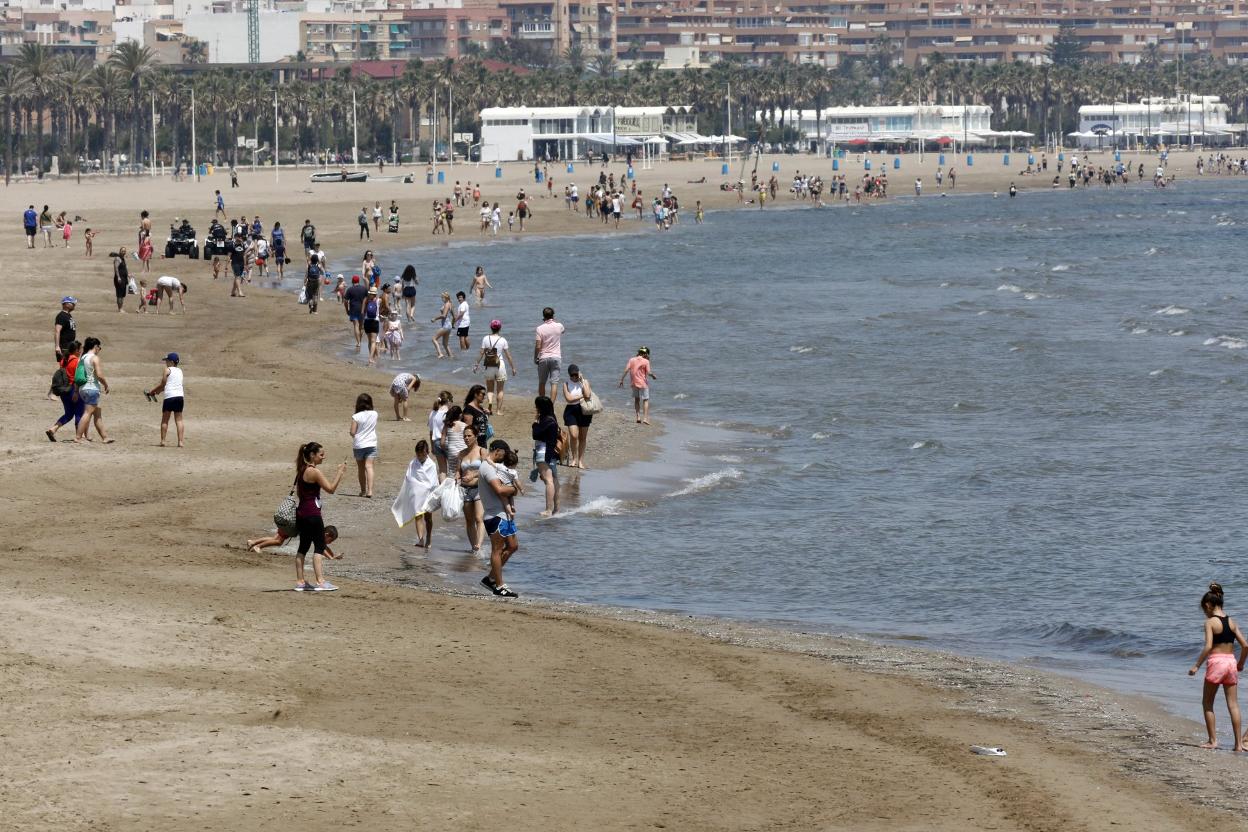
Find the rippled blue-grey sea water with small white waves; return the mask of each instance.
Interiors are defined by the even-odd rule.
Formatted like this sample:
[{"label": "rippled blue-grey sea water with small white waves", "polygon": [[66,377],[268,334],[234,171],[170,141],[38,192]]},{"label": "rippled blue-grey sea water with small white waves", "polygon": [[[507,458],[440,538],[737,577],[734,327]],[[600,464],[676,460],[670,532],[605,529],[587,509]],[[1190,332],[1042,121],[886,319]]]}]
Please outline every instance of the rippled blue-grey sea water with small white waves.
[{"label": "rippled blue-grey sea water with small white waves", "polygon": [[[659,459],[587,474],[563,519],[527,505],[507,570],[525,595],[917,639],[1194,713],[1208,581],[1248,616],[1244,193],[686,212],[668,233],[386,261],[416,263],[426,318],[487,268],[474,349],[502,318],[510,407],[529,407],[543,306],[613,409],[651,351],[654,418],[675,425]],[[437,372],[427,338],[407,351]]]}]

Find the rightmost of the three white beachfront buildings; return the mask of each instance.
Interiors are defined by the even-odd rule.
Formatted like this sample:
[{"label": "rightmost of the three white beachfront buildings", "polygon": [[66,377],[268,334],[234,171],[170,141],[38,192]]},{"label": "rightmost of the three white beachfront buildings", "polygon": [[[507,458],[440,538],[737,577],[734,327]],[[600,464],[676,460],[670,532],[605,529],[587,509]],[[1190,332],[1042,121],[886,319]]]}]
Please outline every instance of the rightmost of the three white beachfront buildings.
[{"label": "rightmost of the three white beachfront buildings", "polygon": [[1216,95],[1141,99],[1080,107],[1078,132],[1083,146],[1167,142],[1229,145],[1246,125],[1227,121],[1231,107]]}]

